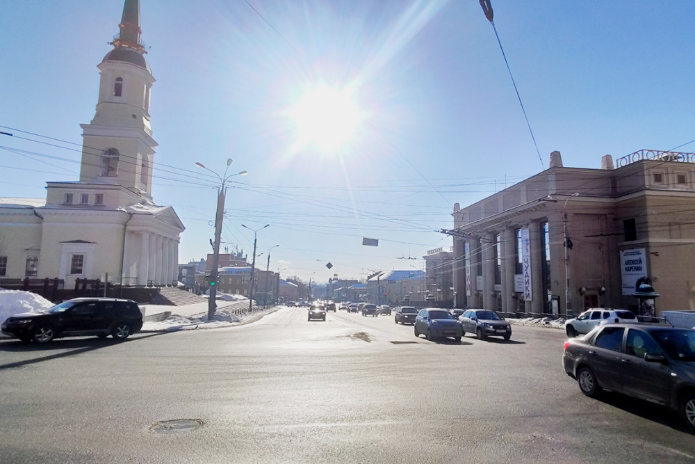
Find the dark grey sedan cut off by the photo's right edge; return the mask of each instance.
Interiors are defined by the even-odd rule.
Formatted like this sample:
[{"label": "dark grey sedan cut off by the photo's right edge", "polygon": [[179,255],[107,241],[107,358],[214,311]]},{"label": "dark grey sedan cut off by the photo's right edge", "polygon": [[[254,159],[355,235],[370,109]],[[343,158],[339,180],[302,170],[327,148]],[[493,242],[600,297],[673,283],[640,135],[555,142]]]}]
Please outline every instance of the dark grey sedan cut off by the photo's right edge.
[{"label": "dark grey sedan cut off by the photo's right edge", "polygon": [[695,432],[695,330],[613,323],[564,343],[562,365],[583,394],[603,388],[676,410]]}]

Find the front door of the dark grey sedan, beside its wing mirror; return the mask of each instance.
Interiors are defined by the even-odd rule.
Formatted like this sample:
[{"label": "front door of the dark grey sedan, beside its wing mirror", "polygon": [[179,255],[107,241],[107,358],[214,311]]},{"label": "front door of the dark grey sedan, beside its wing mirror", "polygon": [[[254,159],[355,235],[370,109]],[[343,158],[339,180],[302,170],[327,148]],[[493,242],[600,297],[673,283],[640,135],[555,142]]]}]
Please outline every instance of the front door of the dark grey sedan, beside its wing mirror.
[{"label": "front door of the dark grey sedan, beside its wing mirror", "polygon": [[621,362],[623,390],[636,397],[669,403],[673,387],[671,368],[661,362],[644,360],[646,353],[662,353],[655,340],[643,330],[628,329]]}]

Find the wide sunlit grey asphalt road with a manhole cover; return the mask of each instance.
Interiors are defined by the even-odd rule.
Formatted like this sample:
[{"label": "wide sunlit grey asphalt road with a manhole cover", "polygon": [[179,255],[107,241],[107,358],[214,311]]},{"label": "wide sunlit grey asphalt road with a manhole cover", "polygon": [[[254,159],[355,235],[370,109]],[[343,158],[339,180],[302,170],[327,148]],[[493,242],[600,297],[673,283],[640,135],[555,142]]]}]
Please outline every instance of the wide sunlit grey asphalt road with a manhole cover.
[{"label": "wide sunlit grey asphalt road with a manhole cover", "polygon": [[[416,339],[393,317],[286,308],[126,342],[0,341],[1,463],[694,463],[660,406],[581,394],[564,334]],[[154,433],[170,419],[199,419]]]}]

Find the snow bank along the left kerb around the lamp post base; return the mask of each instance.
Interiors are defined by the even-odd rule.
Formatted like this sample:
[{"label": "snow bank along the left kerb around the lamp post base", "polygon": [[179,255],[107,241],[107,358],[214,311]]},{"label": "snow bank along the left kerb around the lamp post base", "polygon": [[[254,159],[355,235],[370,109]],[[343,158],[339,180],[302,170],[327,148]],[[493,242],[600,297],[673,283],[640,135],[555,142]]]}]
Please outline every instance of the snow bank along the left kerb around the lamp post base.
[{"label": "snow bank along the left kerb around the lamp post base", "polygon": [[[197,303],[199,304],[199,303]],[[207,304],[207,303],[206,303]],[[189,305],[193,306],[193,305]],[[185,308],[186,306],[168,306],[169,308]],[[172,314],[170,317],[161,322],[145,322],[142,324],[140,332],[173,332],[174,330],[195,330],[199,328],[220,328],[239,326],[249,322],[251,319],[263,317],[266,314],[275,312],[284,306],[269,307],[266,310],[259,310],[247,314],[233,314],[224,308],[215,311],[215,320],[208,321],[207,314],[197,314],[192,316],[181,316],[180,314]],[[170,311],[171,309],[167,310]],[[207,312],[207,307],[206,310]]]}]

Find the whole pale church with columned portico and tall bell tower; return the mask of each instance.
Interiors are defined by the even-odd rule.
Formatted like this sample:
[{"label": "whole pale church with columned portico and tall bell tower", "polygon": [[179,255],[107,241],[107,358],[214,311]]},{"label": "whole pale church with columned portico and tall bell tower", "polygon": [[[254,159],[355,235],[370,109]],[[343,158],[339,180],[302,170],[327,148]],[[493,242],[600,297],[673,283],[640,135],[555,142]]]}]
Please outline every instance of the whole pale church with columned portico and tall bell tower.
[{"label": "whole pale church with columned portico and tall bell tower", "polygon": [[66,289],[78,278],[176,285],[184,227],[172,207],[152,201],[154,77],[139,0],[125,1],[119,28],[98,65],[95,117],[81,125],[79,181],[48,182],[45,199],[0,198],[0,279],[59,278]]}]

